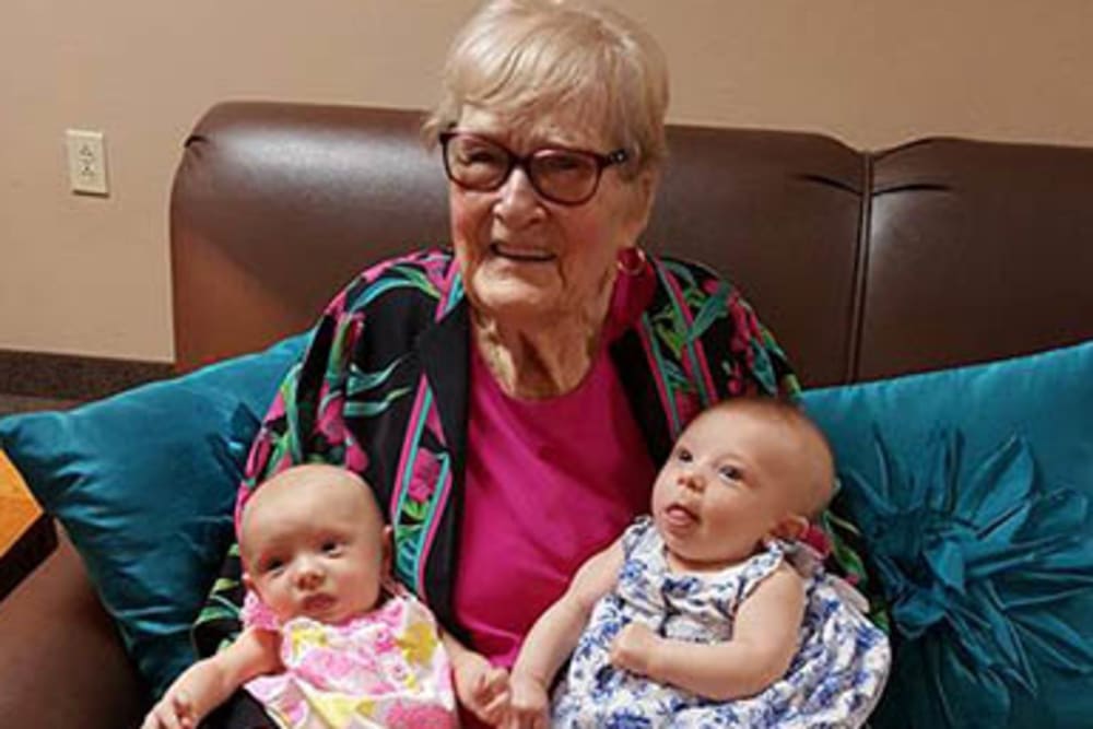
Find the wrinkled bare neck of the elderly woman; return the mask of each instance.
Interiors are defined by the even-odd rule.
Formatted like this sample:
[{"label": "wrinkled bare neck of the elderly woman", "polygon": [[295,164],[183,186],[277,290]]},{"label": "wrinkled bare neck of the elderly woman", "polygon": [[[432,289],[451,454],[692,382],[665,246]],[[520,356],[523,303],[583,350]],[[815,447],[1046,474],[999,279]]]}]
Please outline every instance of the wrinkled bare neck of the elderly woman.
[{"label": "wrinkled bare neck of the elderly woman", "polygon": [[513,322],[472,311],[474,344],[501,389],[528,400],[575,390],[599,352],[610,287],[607,293],[553,321]]}]

